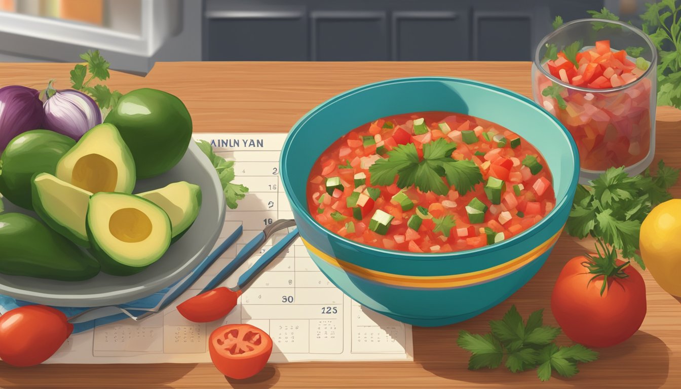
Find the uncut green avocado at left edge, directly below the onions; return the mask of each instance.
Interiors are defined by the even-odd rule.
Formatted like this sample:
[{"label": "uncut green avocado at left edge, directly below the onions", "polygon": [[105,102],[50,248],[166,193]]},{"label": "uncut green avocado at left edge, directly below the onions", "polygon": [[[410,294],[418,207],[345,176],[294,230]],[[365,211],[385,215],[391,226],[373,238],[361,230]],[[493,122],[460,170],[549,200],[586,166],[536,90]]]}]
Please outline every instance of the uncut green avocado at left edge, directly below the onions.
[{"label": "uncut green avocado at left edge, directly below the onions", "polygon": [[72,138],[47,129],[16,136],[0,156],[0,193],[13,204],[33,210],[33,174],[54,174],[59,159],[75,145]]}]

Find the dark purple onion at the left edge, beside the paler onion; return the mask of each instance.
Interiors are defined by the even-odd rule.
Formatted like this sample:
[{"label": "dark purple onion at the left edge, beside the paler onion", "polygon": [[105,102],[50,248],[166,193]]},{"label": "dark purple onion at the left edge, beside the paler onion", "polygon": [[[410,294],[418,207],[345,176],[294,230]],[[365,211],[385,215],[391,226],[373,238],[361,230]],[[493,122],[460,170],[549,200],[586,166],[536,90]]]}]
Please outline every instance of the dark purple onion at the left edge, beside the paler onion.
[{"label": "dark purple onion at the left edge, beside the paler onion", "polygon": [[43,125],[43,104],[35,89],[11,85],[0,89],[0,153],[19,134]]}]

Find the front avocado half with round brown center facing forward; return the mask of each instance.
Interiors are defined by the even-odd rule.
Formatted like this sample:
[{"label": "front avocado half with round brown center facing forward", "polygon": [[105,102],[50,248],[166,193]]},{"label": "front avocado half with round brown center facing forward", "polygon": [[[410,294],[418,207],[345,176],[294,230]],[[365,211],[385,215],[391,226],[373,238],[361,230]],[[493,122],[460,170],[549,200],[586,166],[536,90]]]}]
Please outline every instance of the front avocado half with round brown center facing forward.
[{"label": "front avocado half with round brown center facing forward", "polygon": [[95,193],[86,230],[101,270],[110,275],[139,273],[163,256],[172,238],[165,211],[127,193]]}]

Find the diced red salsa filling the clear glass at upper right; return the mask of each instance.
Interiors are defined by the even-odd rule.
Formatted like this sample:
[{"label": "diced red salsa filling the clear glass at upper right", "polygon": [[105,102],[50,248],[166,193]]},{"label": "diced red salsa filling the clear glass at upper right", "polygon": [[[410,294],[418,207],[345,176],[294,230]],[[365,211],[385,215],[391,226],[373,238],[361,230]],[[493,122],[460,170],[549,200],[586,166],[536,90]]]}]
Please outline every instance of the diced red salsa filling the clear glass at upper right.
[{"label": "diced red salsa filling the clear glass at upper right", "polygon": [[[570,89],[541,72],[535,74],[535,99],[570,131],[582,169],[633,166],[648,155],[652,84],[641,78],[648,61],[613,50],[605,40],[582,48],[572,59],[561,51],[543,66],[558,80],[590,89]],[[622,86],[628,87],[601,92]]]}]

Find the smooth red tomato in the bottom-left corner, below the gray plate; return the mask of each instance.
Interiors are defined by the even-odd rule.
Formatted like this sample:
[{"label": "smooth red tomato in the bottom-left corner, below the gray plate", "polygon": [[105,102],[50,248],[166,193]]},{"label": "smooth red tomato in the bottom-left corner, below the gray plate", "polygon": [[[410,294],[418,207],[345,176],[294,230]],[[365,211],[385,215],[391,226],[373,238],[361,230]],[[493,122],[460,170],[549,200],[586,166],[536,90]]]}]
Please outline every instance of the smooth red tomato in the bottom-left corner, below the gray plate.
[{"label": "smooth red tomato in the bottom-left corner, below the gray plate", "polygon": [[12,309],[0,317],[0,358],[17,367],[40,364],[57,352],[73,330],[66,315],[52,307]]}]

